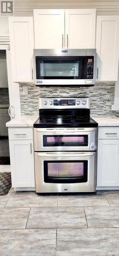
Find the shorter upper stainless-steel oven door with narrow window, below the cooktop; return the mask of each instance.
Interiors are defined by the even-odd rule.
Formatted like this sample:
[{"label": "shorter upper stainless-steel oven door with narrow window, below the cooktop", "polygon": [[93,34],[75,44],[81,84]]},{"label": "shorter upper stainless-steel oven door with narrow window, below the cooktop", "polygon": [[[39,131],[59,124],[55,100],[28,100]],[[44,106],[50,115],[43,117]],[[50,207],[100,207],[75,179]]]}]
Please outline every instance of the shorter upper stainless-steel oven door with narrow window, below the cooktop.
[{"label": "shorter upper stainless-steel oven door with narrow window, below the cooktop", "polygon": [[96,128],[34,128],[35,151],[95,151]]}]

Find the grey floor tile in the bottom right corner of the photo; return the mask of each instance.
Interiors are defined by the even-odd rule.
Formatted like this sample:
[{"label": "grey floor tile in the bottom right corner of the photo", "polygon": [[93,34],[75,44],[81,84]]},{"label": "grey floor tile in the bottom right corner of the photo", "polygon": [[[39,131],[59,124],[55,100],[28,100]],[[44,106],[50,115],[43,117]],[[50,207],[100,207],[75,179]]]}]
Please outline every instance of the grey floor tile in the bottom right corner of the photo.
[{"label": "grey floor tile in the bottom right corner of the photo", "polygon": [[57,229],[56,256],[119,255],[118,228]]}]

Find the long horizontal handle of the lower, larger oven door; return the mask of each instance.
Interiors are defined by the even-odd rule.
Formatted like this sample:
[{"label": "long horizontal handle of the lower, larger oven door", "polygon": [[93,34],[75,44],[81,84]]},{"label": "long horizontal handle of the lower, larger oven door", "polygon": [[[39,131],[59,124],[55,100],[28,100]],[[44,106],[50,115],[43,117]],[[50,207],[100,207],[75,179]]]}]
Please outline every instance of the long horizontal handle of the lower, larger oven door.
[{"label": "long horizontal handle of the lower, larger oven door", "polygon": [[72,153],[72,152],[68,152],[68,153],[66,153],[66,152],[63,152],[63,153],[57,153],[57,152],[54,152],[54,153],[52,153],[52,152],[46,152],[46,153],[44,153],[44,152],[41,152],[41,153],[37,153],[37,156],[47,156],[47,155],[49,155],[49,156],[57,156],[57,157],[69,157],[69,156],[73,156],[73,157],[77,157],[77,156],[79,156],[79,157],[87,157],[87,156],[94,156],[94,153]]}]

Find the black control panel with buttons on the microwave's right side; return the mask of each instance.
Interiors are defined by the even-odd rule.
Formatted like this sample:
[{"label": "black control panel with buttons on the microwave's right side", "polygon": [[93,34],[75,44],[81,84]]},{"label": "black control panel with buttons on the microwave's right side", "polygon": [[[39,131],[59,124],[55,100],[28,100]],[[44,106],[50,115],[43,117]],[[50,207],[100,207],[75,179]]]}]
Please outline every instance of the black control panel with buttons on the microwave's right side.
[{"label": "black control panel with buttons on the microwave's right side", "polygon": [[93,79],[94,73],[94,56],[86,58],[86,79]]}]

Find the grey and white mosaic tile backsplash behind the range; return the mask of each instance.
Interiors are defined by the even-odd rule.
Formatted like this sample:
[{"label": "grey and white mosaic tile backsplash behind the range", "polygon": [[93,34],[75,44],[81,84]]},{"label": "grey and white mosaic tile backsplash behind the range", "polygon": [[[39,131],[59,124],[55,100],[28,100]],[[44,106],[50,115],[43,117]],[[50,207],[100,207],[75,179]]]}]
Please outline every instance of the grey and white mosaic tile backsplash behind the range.
[{"label": "grey and white mosaic tile backsplash behind the range", "polygon": [[111,111],[114,103],[115,83],[96,83],[94,87],[43,87],[27,85],[28,95],[22,95],[20,85],[21,115],[38,115],[39,97],[90,97],[90,109],[92,116],[112,115],[117,112]]}]

